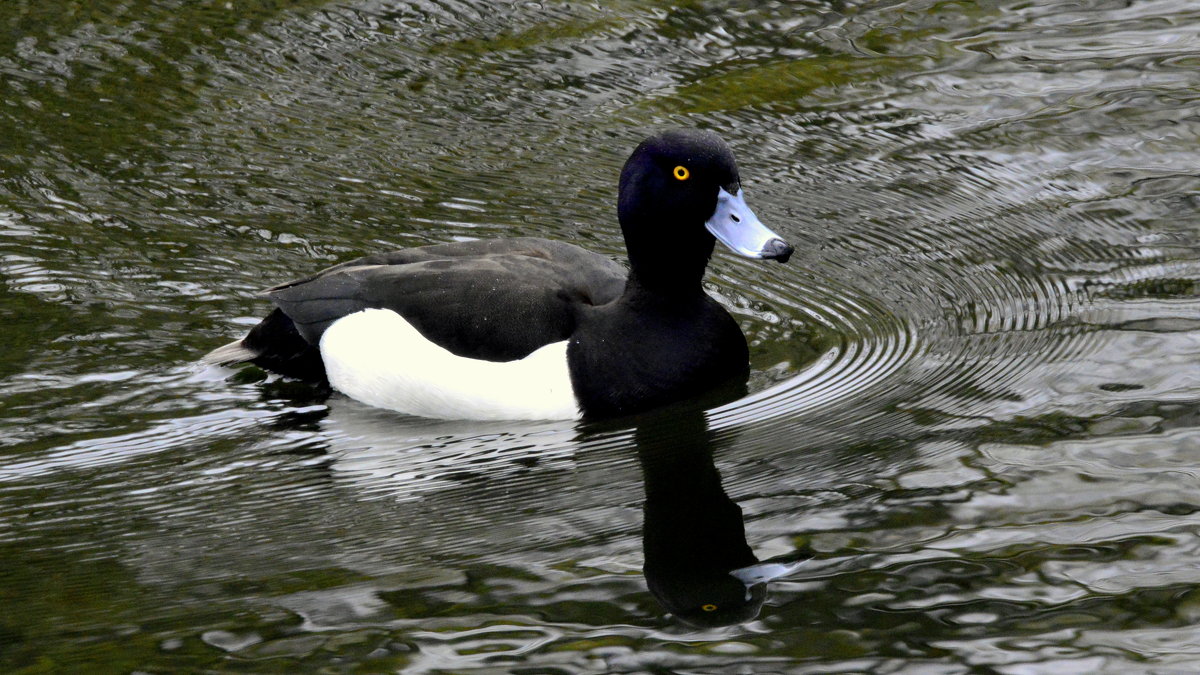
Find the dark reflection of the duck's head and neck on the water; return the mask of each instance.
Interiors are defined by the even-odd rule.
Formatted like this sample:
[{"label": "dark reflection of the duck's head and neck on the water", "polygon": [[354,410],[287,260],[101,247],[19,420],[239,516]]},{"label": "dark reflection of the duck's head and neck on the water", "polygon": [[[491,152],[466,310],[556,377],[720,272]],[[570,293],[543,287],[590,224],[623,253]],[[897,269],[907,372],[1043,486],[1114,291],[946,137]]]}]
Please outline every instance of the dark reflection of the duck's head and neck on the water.
[{"label": "dark reflection of the duck's head and neck on the water", "polygon": [[808,556],[760,562],[746,544],[742,509],[725,494],[713,462],[718,446],[703,412],[661,414],[638,424],[646,484],[642,546],[650,593],[695,627],[750,621],[767,584]]}]

